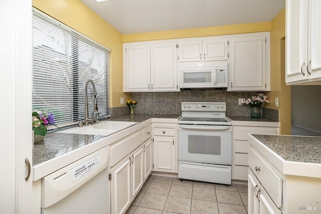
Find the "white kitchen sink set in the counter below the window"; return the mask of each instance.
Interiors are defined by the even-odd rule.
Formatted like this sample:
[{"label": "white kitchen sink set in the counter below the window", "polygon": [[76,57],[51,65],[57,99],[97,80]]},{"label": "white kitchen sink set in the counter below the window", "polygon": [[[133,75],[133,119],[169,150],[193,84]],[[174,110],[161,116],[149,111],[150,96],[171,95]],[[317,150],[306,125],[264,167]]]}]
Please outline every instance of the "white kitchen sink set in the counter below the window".
[{"label": "white kitchen sink set in the counter below the window", "polygon": [[89,134],[89,135],[110,135],[114,132],[125,129],[129,126],[136,124],[137,122],[124,122],[124,121],[101,121],[100,123],[83,126],[83,127],[74,127],[70,129],[65,129],[58,131],[60,133],[69,133],[69,134]]}]

